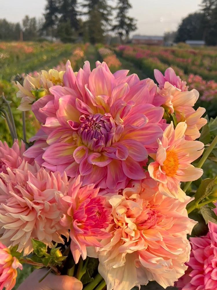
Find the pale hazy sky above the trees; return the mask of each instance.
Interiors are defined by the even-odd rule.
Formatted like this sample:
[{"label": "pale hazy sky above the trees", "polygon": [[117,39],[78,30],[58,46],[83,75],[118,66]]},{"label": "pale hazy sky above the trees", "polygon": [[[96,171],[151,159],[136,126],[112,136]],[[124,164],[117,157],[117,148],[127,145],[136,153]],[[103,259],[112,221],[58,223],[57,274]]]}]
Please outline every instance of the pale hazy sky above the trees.
[{"label": "pale hazy sky above the trees", "polygon": [[[78,0],[78,3],[82,2]],[[109,3],[115,4],[110,0]],[[132,9],[129,16],[137,19],[133,34],[163,35],[174,31],[188,14],[200,9],[202,0],[129,0]],[[21,22],[25,15],[41,18],[46,0],[0,0],[0,19]]]}]

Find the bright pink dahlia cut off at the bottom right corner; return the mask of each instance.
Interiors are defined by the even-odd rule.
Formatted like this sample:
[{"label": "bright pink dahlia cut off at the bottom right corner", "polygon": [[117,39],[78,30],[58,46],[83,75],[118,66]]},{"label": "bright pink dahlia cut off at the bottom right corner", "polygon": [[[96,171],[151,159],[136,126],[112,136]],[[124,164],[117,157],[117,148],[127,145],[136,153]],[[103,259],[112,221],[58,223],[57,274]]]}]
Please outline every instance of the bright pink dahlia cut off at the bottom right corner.
[{"label": "bright pink dahlia cut off at the bottom right corner", "polygon": [[176,283],[180,290],[217,289],[217,224],[209,222],[209,232],[190,238],[192,251],[185,275]]}]

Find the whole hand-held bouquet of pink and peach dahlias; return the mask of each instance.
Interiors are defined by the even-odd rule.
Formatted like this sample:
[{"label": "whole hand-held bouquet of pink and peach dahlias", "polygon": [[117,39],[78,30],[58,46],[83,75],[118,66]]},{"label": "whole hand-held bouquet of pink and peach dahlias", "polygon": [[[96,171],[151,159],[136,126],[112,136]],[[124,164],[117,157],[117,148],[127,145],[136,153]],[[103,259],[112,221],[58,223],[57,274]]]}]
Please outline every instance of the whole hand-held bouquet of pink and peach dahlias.
[{"label": "whole hand-held bouquet of pink and peach dahlias", "polygon": [[[17,82],[19,110],[41,127],[29,143],[0,143],[0,289],[23,263],[85,290],[166,288],[185,271],[178,287],[217,289],[216,179],[201,180],[207,157],[216,162],[217,122],[194,110],[198,92],[172,68],[155,78],[112,74],[105,62],[73,72],[67,61]],[[191,252],[198,216],[209,233],[190,238]]]}]

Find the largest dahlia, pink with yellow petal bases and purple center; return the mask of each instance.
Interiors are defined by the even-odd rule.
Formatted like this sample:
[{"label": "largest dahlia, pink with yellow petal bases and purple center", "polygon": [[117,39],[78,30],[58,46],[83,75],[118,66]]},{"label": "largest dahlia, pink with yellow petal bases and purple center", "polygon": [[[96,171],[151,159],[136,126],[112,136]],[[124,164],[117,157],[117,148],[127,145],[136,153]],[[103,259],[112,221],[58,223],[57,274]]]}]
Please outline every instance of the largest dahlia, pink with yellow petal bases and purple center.
[{"label": "largest dahlia, pink with yellow petal bases and purple center", "polygon": [[86,61],[75,74],[68,61],[65,86],[53,86],[53,95],[32,105],[43,123],[42,137],[34,137],[25,156],[36,157],[36,149],[46,168],[70,177],[80,174],[83,185],[95,183],[110,192],[130,179],[143,179],[147,151],[157,148],[166,126],[164,110],[152,105],[154,82],[127,73],[112,74],[104,62],[91,72]]}]

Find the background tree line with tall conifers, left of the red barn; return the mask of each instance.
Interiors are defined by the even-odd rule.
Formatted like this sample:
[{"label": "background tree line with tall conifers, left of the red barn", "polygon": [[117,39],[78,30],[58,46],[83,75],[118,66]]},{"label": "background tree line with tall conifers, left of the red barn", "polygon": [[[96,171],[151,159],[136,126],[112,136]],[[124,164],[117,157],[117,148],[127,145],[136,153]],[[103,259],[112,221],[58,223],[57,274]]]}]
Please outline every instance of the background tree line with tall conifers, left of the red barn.
[{"label": "background tree line with tall conifers, left of the red barn", "polygon": [[106,33],[114,32],[120,39],[128,38],[136,30],[136,20],[128,16],[131,4],[117,0],[113,7],[109,0],[47,0],[44,19],[25,16],[20,23],[0,19],[0,40],[38,40],[40,37],[56,37],[63,42],[78,39],[92,44],[103,42]]}]

